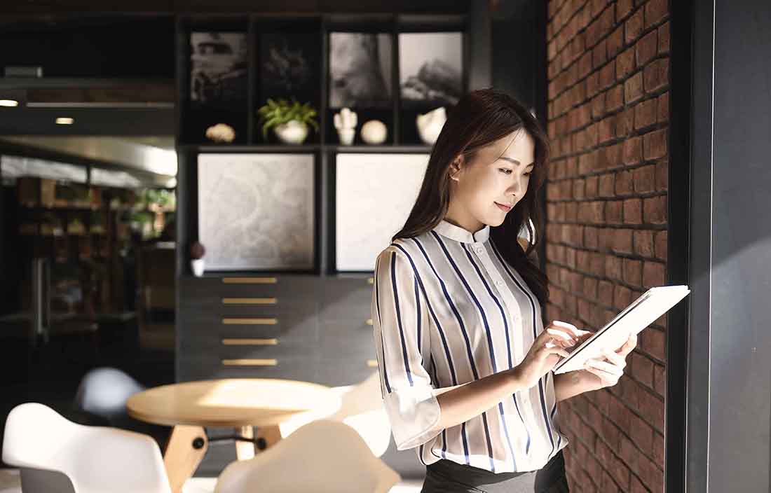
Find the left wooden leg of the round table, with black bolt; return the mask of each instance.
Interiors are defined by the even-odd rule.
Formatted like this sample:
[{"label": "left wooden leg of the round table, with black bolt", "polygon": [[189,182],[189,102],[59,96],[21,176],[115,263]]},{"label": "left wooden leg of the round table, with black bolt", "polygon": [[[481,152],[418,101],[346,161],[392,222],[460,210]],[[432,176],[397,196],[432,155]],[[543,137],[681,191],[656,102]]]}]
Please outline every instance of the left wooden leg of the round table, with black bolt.
[{"label": "left wooden leg of the round table, with black bolt", "polygon": [[171,431],[169,444],[163,453],[163,465],[169,477],[172,493],[180,493],[188,478],[204,458],[209,441],[206,430],[200,426],[175,426]]}]

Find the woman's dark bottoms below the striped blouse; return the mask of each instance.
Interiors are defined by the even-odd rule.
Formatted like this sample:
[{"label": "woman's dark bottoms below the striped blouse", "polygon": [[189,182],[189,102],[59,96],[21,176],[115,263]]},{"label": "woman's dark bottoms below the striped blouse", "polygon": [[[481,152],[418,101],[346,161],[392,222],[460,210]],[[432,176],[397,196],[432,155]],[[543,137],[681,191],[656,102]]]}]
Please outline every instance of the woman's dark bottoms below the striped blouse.
[{"label": "woman's dark bottoms below the striped blouse", "polygon": [[565,461],[557,452],[543,468],[529,472],[493,473],[448,459],[426,466],[421,493],[568,493]]}]

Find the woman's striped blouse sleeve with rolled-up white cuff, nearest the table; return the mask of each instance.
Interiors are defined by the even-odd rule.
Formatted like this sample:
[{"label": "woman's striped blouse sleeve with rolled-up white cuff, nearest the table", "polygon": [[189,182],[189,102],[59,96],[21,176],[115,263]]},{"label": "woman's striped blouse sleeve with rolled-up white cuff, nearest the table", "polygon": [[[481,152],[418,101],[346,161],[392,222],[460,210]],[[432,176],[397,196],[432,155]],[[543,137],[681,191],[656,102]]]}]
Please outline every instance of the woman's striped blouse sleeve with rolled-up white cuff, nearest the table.
[{"label": "woman's striped blouse sleeve with rolled-up white cuff, nearest the table", "polygon": [[396,448],[415,448],[441,431],[439,402],[427,371],[430,337],[425,297],[406,253],[383,250],[375,262],[372,326],[385,411]]}]

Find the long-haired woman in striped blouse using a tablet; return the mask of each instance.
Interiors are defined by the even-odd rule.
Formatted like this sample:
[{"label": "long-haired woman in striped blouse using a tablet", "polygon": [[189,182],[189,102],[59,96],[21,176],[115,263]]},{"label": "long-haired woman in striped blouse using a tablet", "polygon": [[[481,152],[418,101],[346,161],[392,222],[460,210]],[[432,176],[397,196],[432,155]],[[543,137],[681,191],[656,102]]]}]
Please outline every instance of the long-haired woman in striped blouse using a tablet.
[{"label": "long-haired woman in striped blouse using a tablet", "polygon": [[637,344],[551,373],[591,333],[541,318],[547,277],[530,255],[546,164],[547,138],[527,109],[493,89],[470,92],[436,140],[405,226],[377,257],[383,403],[397,448],[426,464],[424,493],[568,491],[557,401],[616,384]]}]

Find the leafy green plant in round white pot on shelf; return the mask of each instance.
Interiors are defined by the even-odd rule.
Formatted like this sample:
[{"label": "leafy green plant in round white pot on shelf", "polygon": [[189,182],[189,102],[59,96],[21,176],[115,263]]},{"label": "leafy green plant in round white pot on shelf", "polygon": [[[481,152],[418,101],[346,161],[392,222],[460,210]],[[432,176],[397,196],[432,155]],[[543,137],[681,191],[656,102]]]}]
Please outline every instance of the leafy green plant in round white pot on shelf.
[{"label": "leafy green plant in round white pot on shelf", "polygon": [[294,98],[291,102],[286,99],[274,101],[268,98],[268,102],[257,112],[265,139],[268,139],[268,129],[272,128],[282,143],[301,144],[308,136],[308,125],[318,131],[318,122],[315,119],[318,112],[310,102],[301,105]]}]

